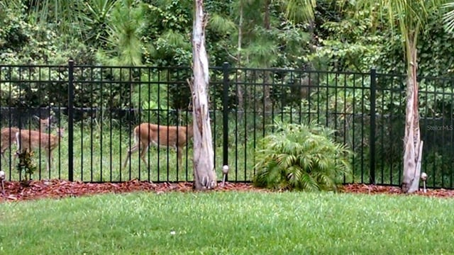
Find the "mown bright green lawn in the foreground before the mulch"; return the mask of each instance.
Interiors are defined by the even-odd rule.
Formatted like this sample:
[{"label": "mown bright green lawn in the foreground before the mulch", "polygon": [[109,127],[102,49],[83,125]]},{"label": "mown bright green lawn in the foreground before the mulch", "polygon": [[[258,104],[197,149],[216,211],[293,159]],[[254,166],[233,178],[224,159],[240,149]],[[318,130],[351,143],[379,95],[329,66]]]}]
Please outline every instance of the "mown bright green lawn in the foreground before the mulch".
[{"label": "mown bright green lawn in the foreground before the mulch", "polygon": [[3,203],[1,254],[448,254],[454,200],[130,193]]}]

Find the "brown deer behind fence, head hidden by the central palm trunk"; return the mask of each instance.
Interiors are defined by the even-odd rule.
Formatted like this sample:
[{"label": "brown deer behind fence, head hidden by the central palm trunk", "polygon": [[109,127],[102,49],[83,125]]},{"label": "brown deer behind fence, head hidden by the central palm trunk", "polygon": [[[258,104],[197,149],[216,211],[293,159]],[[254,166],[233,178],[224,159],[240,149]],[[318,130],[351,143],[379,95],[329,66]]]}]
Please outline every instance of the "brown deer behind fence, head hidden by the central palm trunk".
[{"label": "brown deer behind fence, head hidden by the central palm trunk", "polygon": [[[158,144],[159,134],[159,144]],[[187,145],[187,141],[194,135],[192,124],[185,126],[165,126],[151,123],[141,123],[133,130],[134,145],[126,152],[126,160],[123,163],[123,169],[126,166],[131,154],[140,149],[140,159],[148,168],[148,162],[145,160],[145,152],[150,145],[158,147],[172,147],[177,150],[178,164],[182,165],[183,148]]]}]

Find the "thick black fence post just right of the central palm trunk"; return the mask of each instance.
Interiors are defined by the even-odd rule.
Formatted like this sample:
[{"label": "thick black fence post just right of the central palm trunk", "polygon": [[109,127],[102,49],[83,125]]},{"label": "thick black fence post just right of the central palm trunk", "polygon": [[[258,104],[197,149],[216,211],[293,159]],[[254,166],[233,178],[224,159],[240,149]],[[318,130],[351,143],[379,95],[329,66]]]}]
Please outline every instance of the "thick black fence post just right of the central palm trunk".
[{"label": "thick black fence post just right of the central palm trunk", "polygon": [[[228,69],[230,65],[228,62],[224,62],[222,65],[222,70],[223,70],[223,98],[222,98],[222,103],[223,103],[223,109],[222,109],[222,114],[223,114],[223,146],[222,146],[222,152],[223,152],[223,171],[224,167],[228,166],[228,86],[229,86],[229,81],[228,81]],[[225,170],[225,171],[228,171]],[[227,181],[228,174],[225,176],[225,181]]]}]

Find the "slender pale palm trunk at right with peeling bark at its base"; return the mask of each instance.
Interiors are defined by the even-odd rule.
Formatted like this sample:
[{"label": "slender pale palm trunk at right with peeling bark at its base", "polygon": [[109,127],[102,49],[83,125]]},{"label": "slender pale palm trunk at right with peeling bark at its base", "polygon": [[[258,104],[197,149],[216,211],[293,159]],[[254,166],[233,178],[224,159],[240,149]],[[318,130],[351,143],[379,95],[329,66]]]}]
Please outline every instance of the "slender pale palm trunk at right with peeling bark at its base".
[{"label": "slender pale palm trunk at right with peeling bark at its base", "polygon": [[422,146],[419,130],[419,103],[418,103],[418,81],[416,45],[413,42],[407,43],[407,54],[409,54],[408,77],[407,77],[407,101],[406,101],[406,122],[404,137],[404,179],[402,180],[402,191],[413,193],[419,190],[419,178],[421,175]]}]

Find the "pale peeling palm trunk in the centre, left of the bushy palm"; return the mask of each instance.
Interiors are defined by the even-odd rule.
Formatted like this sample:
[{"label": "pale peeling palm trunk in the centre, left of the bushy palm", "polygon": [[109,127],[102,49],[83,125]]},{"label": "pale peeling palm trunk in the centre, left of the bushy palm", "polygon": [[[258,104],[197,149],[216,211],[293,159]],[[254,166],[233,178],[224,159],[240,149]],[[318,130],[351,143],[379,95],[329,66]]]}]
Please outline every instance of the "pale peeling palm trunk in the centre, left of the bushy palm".
[{"label": "pale peeling palm trunk in the centre, left of the bushy palm", "polygon": [[214,152],[209,117],[209,72],[205,49],[204,1],[194,0],[195,15],[192,31],[194,80],[192,86],[192,116],[194,119],[194,188],[204,190],[216,187]]}]

